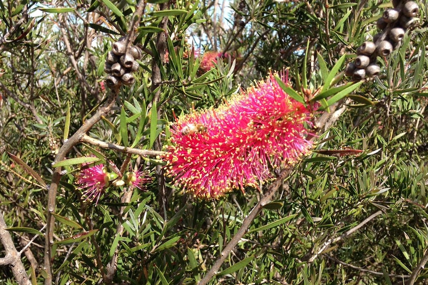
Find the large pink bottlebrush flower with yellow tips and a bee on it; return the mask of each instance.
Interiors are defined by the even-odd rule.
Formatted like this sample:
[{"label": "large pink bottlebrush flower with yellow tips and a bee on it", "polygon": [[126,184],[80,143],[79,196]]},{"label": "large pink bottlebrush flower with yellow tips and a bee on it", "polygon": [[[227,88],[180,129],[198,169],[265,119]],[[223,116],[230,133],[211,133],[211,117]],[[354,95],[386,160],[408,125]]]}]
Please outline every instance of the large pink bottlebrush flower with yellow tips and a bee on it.
[{"label": "large pink bottlebrush flower with yellow tips and a bee on it", "polygon": [[[288,84],[287,74],[281,74]],[[310,111],[279,86],[274,74],[217,109],[180,117],[164,158],[167,175],[201,198],[258,187],[274,168],[308,154]]]}]

